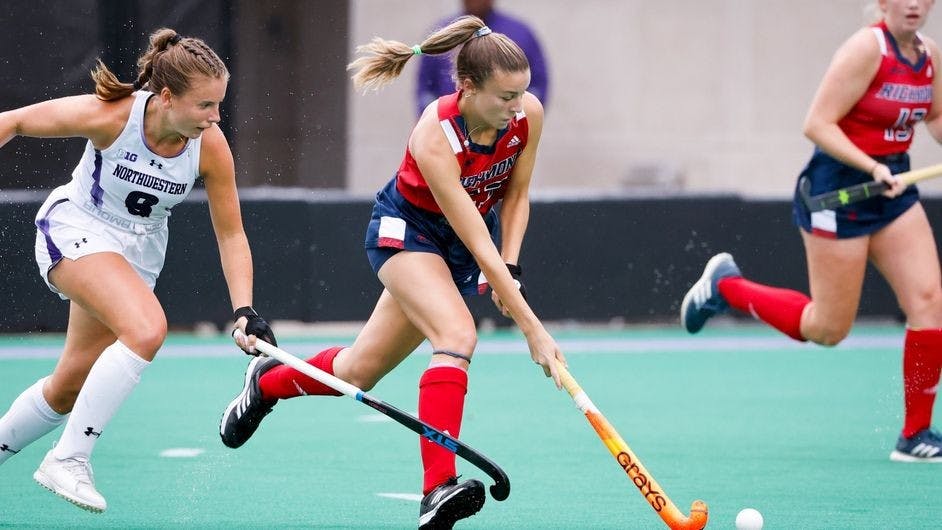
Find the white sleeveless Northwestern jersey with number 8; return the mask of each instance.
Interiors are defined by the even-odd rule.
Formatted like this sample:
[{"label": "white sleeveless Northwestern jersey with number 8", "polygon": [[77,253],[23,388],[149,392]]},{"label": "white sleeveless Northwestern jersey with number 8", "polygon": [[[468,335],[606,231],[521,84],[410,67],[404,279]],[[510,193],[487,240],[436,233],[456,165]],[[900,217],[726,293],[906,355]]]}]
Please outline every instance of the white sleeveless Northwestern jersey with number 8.
[{"label": "white sleeveless Northwestern jersey with number 8", "polygon": [[89,141],[72,181],[64,186],[70,201],[108,223],[163,224],[199,176],[202,137],[188,140],[171,157],[147,147],[144,110],[153,95],[134,93],[131,115],[118,138],[106,149]]}]

